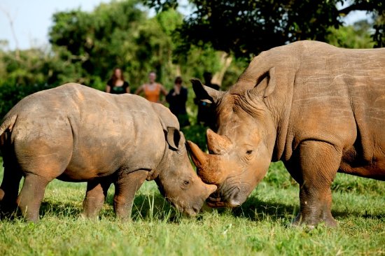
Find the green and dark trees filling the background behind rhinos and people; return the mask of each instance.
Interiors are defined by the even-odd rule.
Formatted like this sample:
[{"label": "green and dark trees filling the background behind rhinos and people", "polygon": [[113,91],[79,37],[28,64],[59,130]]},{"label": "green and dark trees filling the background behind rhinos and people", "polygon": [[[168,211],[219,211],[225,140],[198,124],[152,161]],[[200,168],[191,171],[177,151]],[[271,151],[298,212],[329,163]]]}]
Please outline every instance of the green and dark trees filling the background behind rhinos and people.
[{"label": "green and dark trees filling the background behind rhinos and people", "polygon": [[[357,6],[337,11],[336,1],[190,1],[195,8],[183,19],[175,10],[178,1],[145,1],[162,10],[149,17],[140,0],[125,0],[101,3],[90,12],[58,12],[52,16],[49,46],[9,51],[0,42],[0,118],[20,99],[45,88],[77,82],[104,90],[116,66],[123,69],[131,90],[151,70],[168,89],[175,76],[181,75],[189,87],[188,79],[202,79],[209,71],[225,90],[251,55],[275,45],[312,38],[371,48],[373,36],[383,38],[383,6],[365,1],[364,7],[366,2],[377,13],[374,20],[338,29],[340,15]],[[373,26],[378,29],[372,31]],[[193,97],[190,90],[192,119]]]}]

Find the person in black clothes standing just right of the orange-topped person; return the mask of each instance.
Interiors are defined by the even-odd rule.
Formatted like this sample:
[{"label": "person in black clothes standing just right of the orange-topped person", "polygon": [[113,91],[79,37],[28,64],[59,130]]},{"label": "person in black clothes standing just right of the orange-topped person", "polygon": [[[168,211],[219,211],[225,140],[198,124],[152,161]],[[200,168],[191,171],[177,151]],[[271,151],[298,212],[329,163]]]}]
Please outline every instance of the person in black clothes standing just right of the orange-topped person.
[{"label": "person in black clothes standing just right of the orange-topped person", "polygon": [[185,127],[190,125],[186,111],[188,91],[182,86],[182,83],[183,81],[180,76],[175,78],[174,88],[169,91],[169,94],[166,96],[166,100],[169,103],[170,111],[176,115],[176,118],[178,118],[179,125],[181,125],[181,127]]}]

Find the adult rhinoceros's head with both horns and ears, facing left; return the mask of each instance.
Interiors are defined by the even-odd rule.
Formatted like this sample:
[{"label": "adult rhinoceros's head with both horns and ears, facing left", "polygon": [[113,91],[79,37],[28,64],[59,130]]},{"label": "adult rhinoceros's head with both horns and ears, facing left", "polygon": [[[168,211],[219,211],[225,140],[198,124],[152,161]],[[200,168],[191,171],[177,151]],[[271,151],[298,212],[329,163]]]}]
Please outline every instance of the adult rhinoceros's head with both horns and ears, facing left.
[{"label": "adult rhinoceros's head with both horns and ears, facing left", "polygon": [[219,92],[199,80],[192,83],[197,97],[216,106],[218,131],[207,130],[209,154],[188,141],[198,176],[218,186],[207,203],[212,207],[239,206],[265,176],[272,159],[276,128],[271,113],[258,101],[274,88],[267,86],[267,80],[260,81],[265,85],[258,85],[258,90],[237,92]]}]

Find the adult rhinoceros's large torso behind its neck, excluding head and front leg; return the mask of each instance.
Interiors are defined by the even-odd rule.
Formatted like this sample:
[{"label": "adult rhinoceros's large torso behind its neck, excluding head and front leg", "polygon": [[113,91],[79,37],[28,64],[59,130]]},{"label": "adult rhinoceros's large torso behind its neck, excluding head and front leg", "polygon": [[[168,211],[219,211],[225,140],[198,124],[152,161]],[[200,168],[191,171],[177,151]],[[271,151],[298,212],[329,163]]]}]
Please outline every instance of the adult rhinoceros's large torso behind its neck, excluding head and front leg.
[{"label": "adult rhinoceros's large torso behind its neck, excluding head and front leg", "polygon": [[[276,52],[291,57],[290,62],[279,62],[282,55]],[[378,178],[372,170],[385,164],[385,49],[342,49],[302,41],[263,57],[269,59],[265,65],[279,72],[279,92],[291,97],[285,107],[289,114],[283,117],[288,134],[279,145],[285,145],[284,159],[290,159],[301,141],[326,141],[342,150],[346,164],[340,171]],[[364,167],[370,171],[364,172]]]}]

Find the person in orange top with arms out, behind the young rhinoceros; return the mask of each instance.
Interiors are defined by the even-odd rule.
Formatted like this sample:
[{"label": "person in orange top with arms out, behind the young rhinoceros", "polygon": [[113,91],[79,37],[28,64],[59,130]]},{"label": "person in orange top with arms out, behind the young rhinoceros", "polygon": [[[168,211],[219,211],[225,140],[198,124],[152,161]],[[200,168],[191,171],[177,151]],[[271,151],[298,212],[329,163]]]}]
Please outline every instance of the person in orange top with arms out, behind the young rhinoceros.
[{"label": "person in orange top with arms out, behind the young rhinoceros", "polygon": [[167,91],[165,87],[163,87],[163,85],[161,85],[160,83],[156,83],[155,80],[156,80],[156,73],[154,71],[151,71],[148,74],[149,83],[145,83],[144,85],[141,85],[141,87],[137,89],[135,94],[139,95],[141,94],[141,92],[143,92],[144,97],[148,101],[164,103],[165,102],[164,100],[160,101],[160,96],[161,94],[163,94],[163,96],[166,97]]}]

